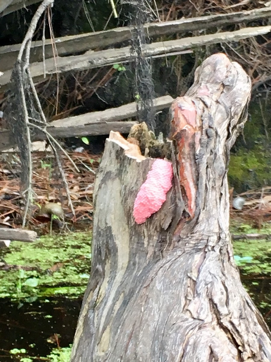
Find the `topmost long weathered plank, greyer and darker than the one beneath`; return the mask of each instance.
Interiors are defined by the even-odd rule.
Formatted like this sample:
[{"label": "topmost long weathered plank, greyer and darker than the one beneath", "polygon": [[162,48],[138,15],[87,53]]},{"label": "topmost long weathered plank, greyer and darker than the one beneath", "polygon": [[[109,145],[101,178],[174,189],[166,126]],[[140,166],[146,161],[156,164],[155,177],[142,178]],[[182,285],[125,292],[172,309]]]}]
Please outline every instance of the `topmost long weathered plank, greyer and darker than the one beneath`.
[{"label": "topmost long weathered plank, greyer and darker than the one beneath", "polygon": [[[0,0],[1,1],[1,0]],[[3,0],[2,0],[3,1]],[[175,21],[164,21],[159,23],[145,24],[146,33],[150,36],[168,35],[180,32],[188,32],[194,30],[208,29],[214,26],[224,24],[235,24],[241,21],[251,21],[259,18],[271,16],[270,8],[261,8],[243,12],[217,14],[209,16],[201,16],[188,19],[179,19]],[[131,38],[132,27],[115,28],[106,31],[96,31],[94,33],[86,33],[79,35],[70,35],[55,39],[57,53],[59,56],[67,54],[78,54],[90,49],[102,50],[105,47],[122,43]],[[0,47],[1,68],[4,72],[15,63],[21,45],[8,45]],[[45,58],[53,57],[53,49],[51,39],[45,41]],[[31,45],[30,61],[42,61],[42,41],[33,42]]]}]

